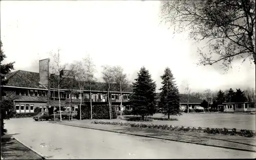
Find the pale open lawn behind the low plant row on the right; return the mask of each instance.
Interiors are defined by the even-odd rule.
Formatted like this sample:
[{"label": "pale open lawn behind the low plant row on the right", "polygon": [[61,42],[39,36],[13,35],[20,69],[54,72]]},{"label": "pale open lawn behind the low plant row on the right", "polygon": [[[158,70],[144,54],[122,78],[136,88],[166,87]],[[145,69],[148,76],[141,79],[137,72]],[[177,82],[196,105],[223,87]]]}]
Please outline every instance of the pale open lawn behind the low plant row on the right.
[{"label": "pale open lawn behind the low plant row on the right", "polygon": [[[167,118],[162,113],[156,113],[153,117]],[[255,128],[255,115],[233,114],[233,113],[201,113],[187,114],[182,116],[170,116],[177,118],[178,121],[157,121],[150,122],[153,124],[167,124],[174,126],[191,126],[191,127],[209,127],[209,128],[237,128],[250,129]]]}]

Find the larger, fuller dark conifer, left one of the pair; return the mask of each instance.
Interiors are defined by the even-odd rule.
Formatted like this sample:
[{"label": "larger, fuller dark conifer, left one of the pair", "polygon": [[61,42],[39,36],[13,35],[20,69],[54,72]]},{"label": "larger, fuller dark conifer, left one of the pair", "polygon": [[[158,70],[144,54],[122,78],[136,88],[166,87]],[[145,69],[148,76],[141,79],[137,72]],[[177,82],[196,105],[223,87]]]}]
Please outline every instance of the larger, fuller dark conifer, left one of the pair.
[{"label": "larger, fuller dark conifer, left one of the pair", "polygon": [[152,116],[156,112],[156,82],[144,66],[137,75],[130,102],[133,114],[140,115],[144,120],[145,116]]}]

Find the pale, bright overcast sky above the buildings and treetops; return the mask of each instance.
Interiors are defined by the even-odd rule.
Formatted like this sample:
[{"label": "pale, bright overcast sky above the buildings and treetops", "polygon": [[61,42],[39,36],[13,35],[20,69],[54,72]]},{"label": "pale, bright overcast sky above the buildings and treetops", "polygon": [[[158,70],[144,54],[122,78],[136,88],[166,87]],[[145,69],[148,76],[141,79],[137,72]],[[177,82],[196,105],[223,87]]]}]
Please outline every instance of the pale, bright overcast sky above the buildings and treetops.
[{"label": "pale, bright overcast sky above the buildings and treetops", "polygon": [[15,70],[39,72],[39,60],[60,49],[62,63],[90,54],[102,81],[102,65],[120,65],[131,82],[145,66],[161,87],[165,67],[180,93],[255,88],[255,65],[235,60],[225,73],[220,64],[197,66],[198,44],[187,33],[173,34],[160,23],[158,1],[1,1],[1,40]]}]

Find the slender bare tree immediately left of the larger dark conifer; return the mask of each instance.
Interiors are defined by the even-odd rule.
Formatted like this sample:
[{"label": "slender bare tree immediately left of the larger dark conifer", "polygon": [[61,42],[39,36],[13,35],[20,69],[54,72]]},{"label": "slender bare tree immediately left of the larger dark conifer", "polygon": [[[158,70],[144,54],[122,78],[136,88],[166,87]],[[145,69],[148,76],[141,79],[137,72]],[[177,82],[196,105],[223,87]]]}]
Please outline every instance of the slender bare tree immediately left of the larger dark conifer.
[{"label": "slender bare tree immediately left of the larger dark conifer", "polygon": [[129,84],[129,80],[127,79],[127,75],[123,73],[123,68],[121,66],[114,67],[114,74],[115,74],[115,83],[118,84],[118,88],[120,90],[120,97],[121,97],[121,104],[120,104],[120,116],[122,116],[122,90],[126,89]]}]

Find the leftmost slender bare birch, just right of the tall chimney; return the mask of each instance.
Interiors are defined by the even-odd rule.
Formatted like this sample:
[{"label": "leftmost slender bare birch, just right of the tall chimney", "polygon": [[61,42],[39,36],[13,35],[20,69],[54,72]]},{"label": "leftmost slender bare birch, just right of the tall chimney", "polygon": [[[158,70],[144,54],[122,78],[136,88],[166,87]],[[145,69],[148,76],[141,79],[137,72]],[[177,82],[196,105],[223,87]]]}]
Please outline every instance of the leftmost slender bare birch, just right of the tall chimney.
[{"label": "leftmost slender bare birch, just right of the tall chimney", "polygon": [[[50,54],[53,57],[53,64],[51,65],[51,69],[52,69],[52,73],[54,75],[57,75],[57,84],[58,84],[58,99],[59,99],[59,110],[61,110],[61,105],[60,105],[60,94],[59,94],[59,87],[60,87],[60,71],[64,70],[67,66],[67,64],[61,65],[61,61],[60,61],[60,55],[59,55],[59,51],[60,49],[57,50],[57,53],[53,53],[52,51],[50,52]],[[54,96],[55,97],[55,96]],[[60,113],[60,121],[61,121],[61,113]]]}]

